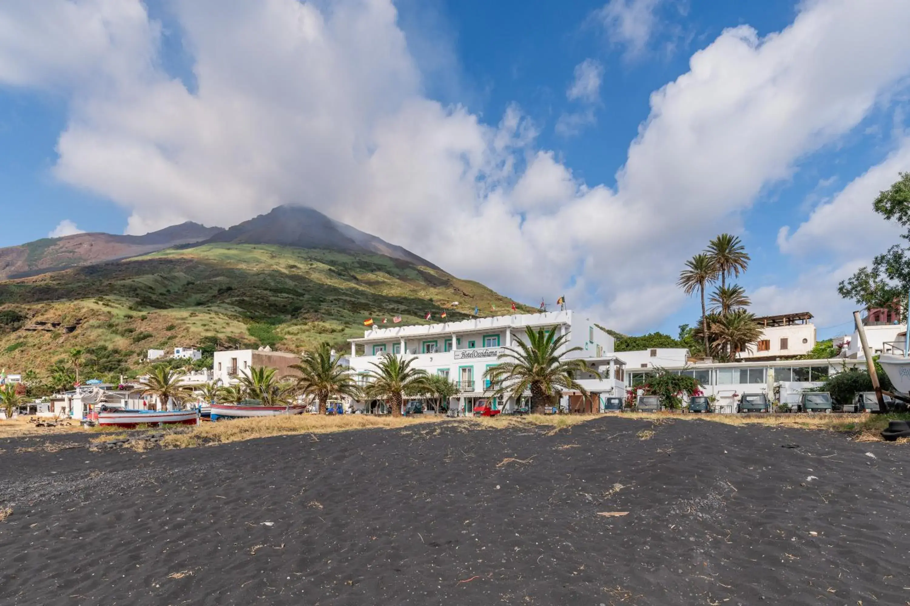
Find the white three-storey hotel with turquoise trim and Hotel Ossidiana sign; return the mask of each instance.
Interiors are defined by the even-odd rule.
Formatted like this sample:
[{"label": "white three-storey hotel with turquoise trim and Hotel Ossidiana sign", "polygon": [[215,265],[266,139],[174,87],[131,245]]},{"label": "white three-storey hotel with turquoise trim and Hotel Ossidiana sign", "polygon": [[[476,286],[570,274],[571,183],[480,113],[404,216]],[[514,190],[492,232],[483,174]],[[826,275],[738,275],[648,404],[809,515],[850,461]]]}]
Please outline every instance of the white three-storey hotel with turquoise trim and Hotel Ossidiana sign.
[{"label": "white three-storey hotel with turquoise trim and Hotel Ossidiana sign", "polygon": [[[583,402],[579,393],[563,394],[563,404],[573,409],[584,406],[601,410],[603,398],[625,395],[624,363],[612,354],[613,338],[597,328],[594,323],[571,311],[502,315],[475,318],[460,322],[436,323],[379,328],[365,331],[362,339],[350,339],[350,368],[365,384],[366,374],[379,363],[384,353],[415,358],[414,367],[427,373],[441,374],[456,382],[460,395],[450,402],[470,413],[475,405],[489,402],[493,408],[508,410],[516,405],[513,399],[496,402],[490,399],[490,384],[484,373],[496,365],[505,347],[511,346],[526,328],[543,328],[568,334],[566,349],[581,347],[580,352],[570,353],[581,358],[602,373],[602,379],[593,374],[576,377],[592,397]],[[530,393],[524,397],[530,397]],[[380,402],[359,402],[367,412],[381,409]]]}]

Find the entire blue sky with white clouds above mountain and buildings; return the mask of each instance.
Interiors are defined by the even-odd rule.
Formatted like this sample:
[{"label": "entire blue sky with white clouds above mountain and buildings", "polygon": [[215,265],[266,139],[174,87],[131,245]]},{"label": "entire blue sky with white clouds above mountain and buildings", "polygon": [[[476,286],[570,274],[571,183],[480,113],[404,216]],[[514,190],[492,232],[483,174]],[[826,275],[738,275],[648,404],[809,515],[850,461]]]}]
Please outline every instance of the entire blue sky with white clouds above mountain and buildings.
[{"label": "entire blue sky with white clouds above mountain and buildings", "polygon": [[754,311],[829,336],[836,283],[895,239],[871,201],[910,170],[905,3],[257,4],[0,7],[0,245],[310,204],[675,334],[675,274],[730,231]]}]

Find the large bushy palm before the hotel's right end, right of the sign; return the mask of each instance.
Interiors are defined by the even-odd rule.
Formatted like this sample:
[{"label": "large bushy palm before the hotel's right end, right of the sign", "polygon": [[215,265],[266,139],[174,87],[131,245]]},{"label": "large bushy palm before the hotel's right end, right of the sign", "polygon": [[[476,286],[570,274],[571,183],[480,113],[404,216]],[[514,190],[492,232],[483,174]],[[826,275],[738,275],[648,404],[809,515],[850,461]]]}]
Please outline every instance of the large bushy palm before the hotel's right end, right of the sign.
[{"label": "large bushy palm before the hotel's right end, right of the sign", "polygon": [[484,373],[494,388],[493,397],[507,396],[518,401],[522,393],[531,390],[531,412],[539,414],[563,389],[587,396],[574,374],[591,373],[598,379],[601,374],[581,360],[564,359],[570,353],[581,352],[581,347],[560,351],[568,340],[568,334],[557,336],[556,331],[545,332],[541,328],[534,332],[530,326],[526,328],[525,340],[517,339],[517,347],[506,347],[499,357],[502,362]]}]

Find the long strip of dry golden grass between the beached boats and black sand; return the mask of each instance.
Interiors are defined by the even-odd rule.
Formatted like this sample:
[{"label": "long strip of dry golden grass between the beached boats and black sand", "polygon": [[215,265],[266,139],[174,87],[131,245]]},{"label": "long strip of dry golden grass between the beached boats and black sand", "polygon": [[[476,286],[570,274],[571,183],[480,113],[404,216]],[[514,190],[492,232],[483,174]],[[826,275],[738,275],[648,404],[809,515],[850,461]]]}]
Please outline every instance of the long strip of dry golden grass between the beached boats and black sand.
[{"label": "long strip of dry golden grass between the beached boats and black sand", "polygon": [[291,416],[258,417],[234,419],[231,421],[206,422],[189,432],[166,435],[161,440],[165,448],[192,448],[207,444],[240,442],[273,435],[295,435],[299,433],[347,432],[358,429],[392,429],[443,422],[445,417],[434,414],[420,416],[391,417],[370,414],[343,414],[325,416],[317,414],[295,414]]}]

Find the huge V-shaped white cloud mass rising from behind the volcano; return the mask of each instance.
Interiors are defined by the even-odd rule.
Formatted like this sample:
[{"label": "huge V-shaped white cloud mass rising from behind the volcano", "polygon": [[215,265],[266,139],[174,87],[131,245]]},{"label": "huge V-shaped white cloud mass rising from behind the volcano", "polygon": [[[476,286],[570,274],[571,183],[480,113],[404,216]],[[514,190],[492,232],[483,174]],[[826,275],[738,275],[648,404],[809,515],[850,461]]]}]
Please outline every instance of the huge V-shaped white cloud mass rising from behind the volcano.
[{"label": "huge V-shaped white cloud mass rising from behind the volcano", "polygon": [[309,204],[630,331],[680,304],[682,259],[910,74],[904,0],[804,4],[764,38],[726,30],[652,94],[611,189],[538,149],[515,106],[485,124],[426,98],[390,0],[175,3],[192,92],[162,71],[138,0],[34,5],[0,5],[0,33],[16,31],[0,35],[0,84],[68,91],[56,175],[129,209],[130,233]]}]

